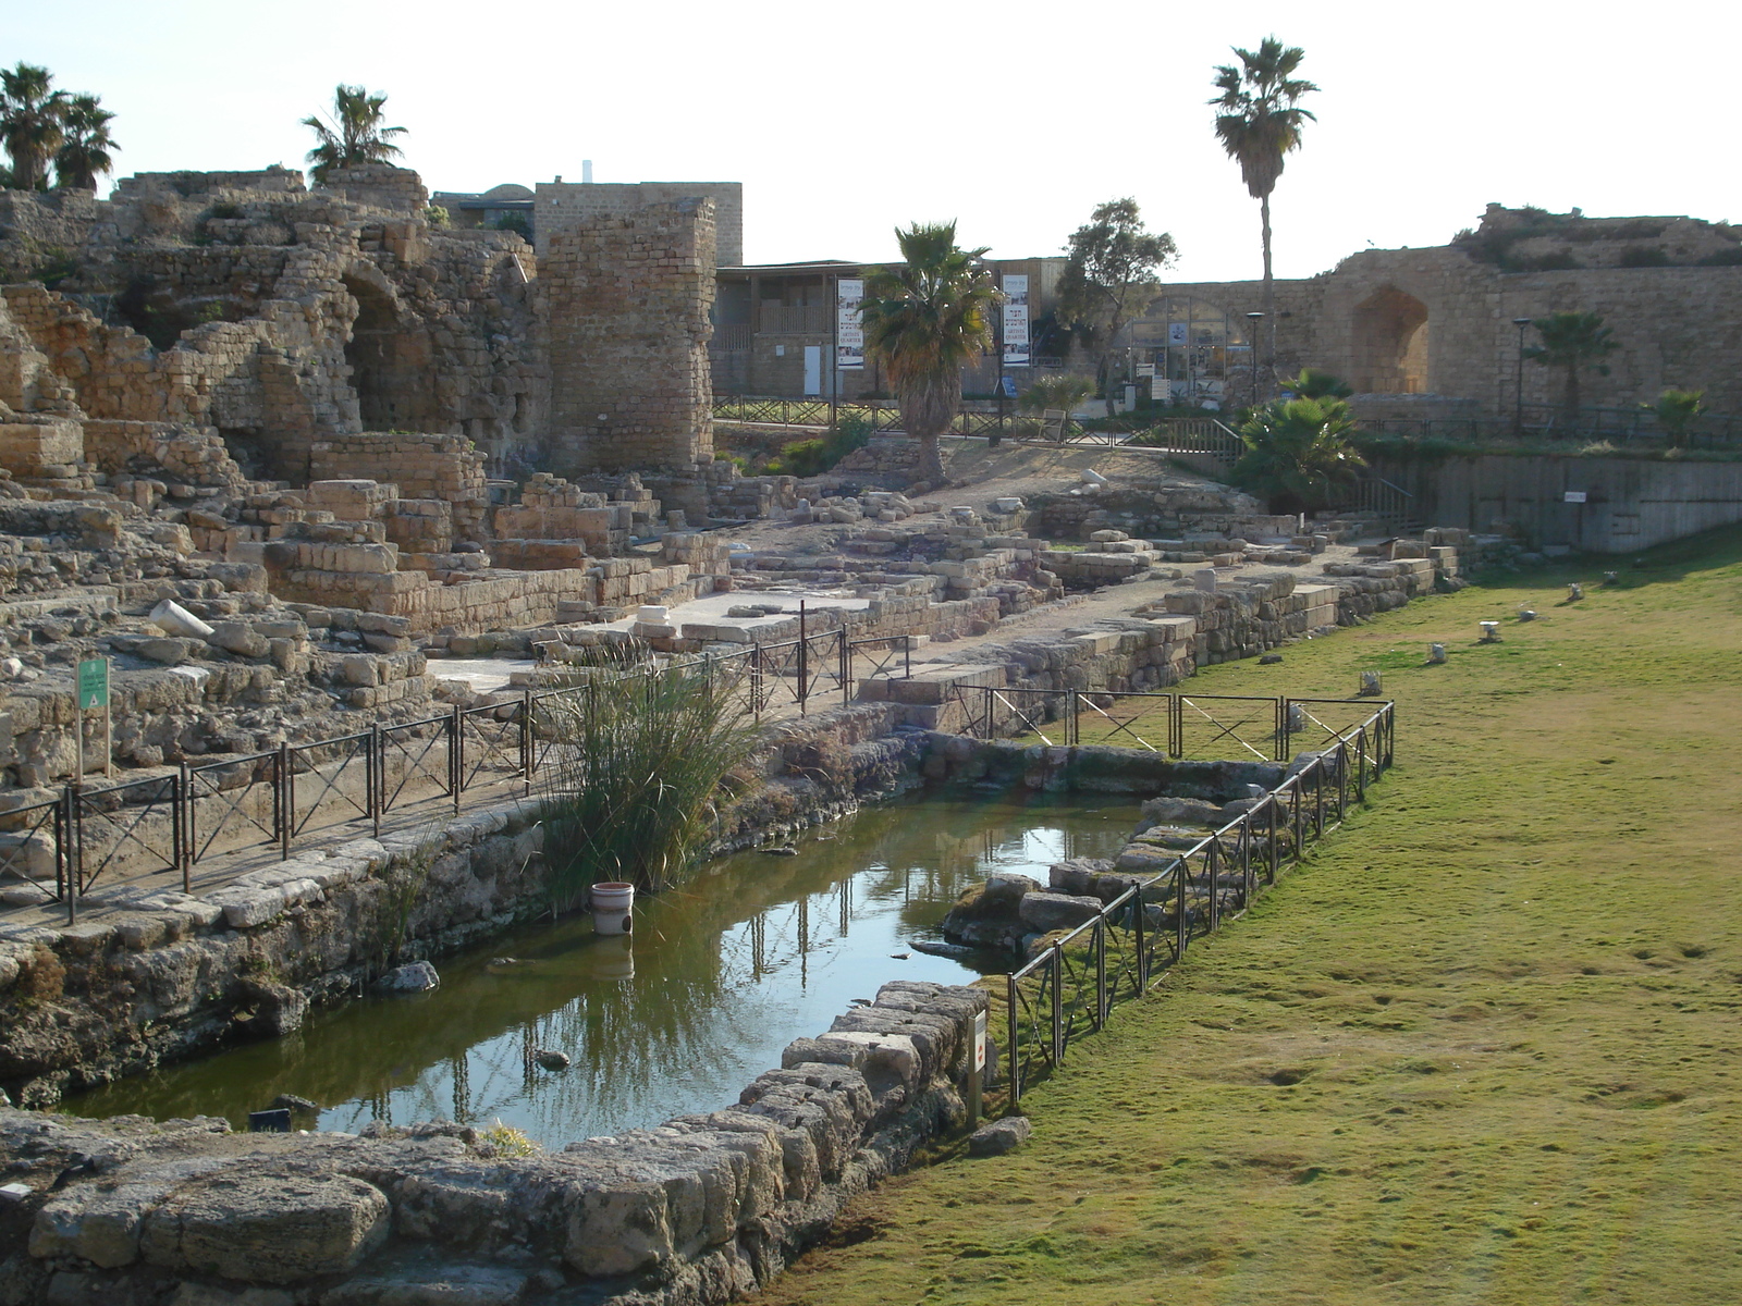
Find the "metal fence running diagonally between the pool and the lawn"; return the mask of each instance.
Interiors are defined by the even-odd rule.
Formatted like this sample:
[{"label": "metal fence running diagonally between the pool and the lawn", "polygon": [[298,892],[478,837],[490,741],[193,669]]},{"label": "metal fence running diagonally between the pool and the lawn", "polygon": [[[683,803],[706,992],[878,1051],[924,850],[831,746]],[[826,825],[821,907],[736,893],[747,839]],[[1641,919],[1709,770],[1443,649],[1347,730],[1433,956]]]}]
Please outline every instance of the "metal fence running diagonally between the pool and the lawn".
[{"label": "metal fence running diagonally between the pool and the lawn", "polygon": [[[1322,700],[1275,700],[1301,709]],[[1176,853],[1155,874],[1059,935],[1005,980],[1009,1104],[1064,1064],[1071,1043],[1101,1029],[1115,1005],[1143,996],[1193,939],[1235,919],[1313,839],[1334,831],[1352,803],[1392,764],[1394,705],[1340,731],[1313,717],[1327,747],[1247,811]],[[1282,709],[1287,710],[1287,709]]]}]

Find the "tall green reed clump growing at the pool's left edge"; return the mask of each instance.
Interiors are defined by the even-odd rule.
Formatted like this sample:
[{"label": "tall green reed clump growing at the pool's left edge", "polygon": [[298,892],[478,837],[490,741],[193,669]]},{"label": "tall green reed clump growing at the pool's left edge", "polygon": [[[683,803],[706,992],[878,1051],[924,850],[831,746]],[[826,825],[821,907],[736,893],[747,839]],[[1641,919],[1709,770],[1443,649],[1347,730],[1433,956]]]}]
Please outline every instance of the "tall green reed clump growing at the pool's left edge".
[{"label": "tall green reed clump growing at the pool's left edge", "polygon": [[634,650],[577,669],[538,703],[544,858],[554,911],[601,881],[655,890],[707,850],[726,777],[753,744],[730,679],[706,662],[655,667]]}]

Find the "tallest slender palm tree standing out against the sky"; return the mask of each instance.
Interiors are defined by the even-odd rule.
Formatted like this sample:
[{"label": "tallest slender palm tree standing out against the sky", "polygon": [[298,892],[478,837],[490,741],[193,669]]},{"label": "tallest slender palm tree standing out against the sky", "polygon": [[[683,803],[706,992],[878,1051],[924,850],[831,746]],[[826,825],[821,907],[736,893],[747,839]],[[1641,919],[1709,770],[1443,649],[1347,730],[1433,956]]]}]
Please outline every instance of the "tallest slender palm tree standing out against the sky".
[{"label": "tallest slender palm tree standing out against the sky", "polygon": [[[1312,113],[1300,108],[1300,99],[1319,87],[1294,77],[1306,50],[1300,45],[1284,45],[1275,37],[1265,37],[1258,52],[1233,47],[1240,56],[1240,66],[1219,64],[1216,68],[1216,91],[1221,94],[1209,101],[1218,110],[1216,139],[1228,157],[1240,164],[1240,178],[1246,192],[1258,200],[1259,221],[1265,242],[1265,320],[1270,326],[1270,364],[1275,366],[1277,353],[1277,312],[1275,286],[1270,273],[1270,192],[1277,188],[1282,176],[1282,160],[1300,148],[1301,127],[1308,120],[1317,122]],[[1256,364],[1258,341],[1252,341]]]}]

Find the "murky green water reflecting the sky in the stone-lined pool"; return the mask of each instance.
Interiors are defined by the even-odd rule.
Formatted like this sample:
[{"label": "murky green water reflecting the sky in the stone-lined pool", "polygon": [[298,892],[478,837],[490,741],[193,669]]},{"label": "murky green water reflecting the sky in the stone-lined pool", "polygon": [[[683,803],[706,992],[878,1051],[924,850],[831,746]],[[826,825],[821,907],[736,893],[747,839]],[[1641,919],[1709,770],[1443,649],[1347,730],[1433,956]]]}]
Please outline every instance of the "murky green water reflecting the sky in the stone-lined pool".
[{"label": "murky green water reflecting the sky in the stone-lined pool", "polygon": [[[712,1111],[880,984],[972,980],[970,966],[911,949],[939,937],[967,885],[995,869],[1043,881],[1064,857],[1111,855],[1136,818],[1134,806],[1092,796],[901,799],[805,839],[798,857],[739,853],[643,899],[632,937],[599,939],[585,916],[523,930],[441,959],[434,993],[364,998],[291,1038],[99,1088],[66,1109],[246,1127],[249,1111],[296,1094],[322,1106],[321,1128],[500,1118],[545,1146]],[[503,956],[517,965],[491,965]],[[544,1071],[533,1048],[573,1066]]]}]

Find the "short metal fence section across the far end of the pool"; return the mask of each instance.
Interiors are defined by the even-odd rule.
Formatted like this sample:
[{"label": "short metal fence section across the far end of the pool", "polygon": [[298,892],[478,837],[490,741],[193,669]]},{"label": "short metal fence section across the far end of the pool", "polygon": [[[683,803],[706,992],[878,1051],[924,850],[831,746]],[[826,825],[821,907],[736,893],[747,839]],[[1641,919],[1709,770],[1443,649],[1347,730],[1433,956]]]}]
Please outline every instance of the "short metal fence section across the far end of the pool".
[{"label": "short metal fence section across the far end of the pool", "polygon": [[[951,684],[962,733],[1077,747],[1104,744],[1167,757],[1286,761],[1341,738],[1373,698],[1259,698],[1183,691],[1003,690]],[[1390,717],[1383,730],[1390,730]],[[1388,744],[1387,744],[1388,747]]]}]

